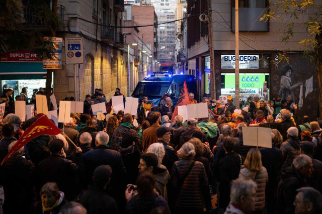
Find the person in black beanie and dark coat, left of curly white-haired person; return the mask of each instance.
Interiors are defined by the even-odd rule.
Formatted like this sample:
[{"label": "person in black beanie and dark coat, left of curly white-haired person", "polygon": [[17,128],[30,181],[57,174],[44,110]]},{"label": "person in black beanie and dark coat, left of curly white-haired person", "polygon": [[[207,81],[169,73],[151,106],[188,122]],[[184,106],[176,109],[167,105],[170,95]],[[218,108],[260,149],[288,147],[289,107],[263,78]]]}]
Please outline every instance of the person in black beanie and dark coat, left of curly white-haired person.
[{"label": "person in black beanie and dark coat, left of curly white-haired person", "polygon": [[122,160],[126,169],[126,183],[135,183],[139,174],[137,166],[140,164],[142,151],[135,145],[136,136],[132,132],[123,135],[118,151],[122,155]]}]

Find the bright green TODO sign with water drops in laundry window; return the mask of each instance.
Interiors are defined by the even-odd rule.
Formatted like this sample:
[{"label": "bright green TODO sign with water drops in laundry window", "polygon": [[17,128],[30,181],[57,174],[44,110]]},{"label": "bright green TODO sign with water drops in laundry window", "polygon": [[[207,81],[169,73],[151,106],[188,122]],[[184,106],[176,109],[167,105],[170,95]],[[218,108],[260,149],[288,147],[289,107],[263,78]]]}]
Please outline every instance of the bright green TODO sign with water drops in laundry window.
[{"label": "bright green TODO sign with water drops in laundry window", "polygon": [[[239,75],[239,88],[263,88],[265,74]],[[225,88],[235,88],[235,75],[225,75]]]}]

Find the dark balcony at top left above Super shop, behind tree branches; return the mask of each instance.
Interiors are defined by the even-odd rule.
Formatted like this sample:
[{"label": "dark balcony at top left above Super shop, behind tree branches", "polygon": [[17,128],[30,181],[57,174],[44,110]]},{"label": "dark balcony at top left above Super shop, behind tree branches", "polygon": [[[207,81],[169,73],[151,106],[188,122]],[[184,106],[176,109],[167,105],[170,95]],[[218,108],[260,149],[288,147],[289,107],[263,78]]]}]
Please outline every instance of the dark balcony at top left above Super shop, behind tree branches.
[{"label": "dark balcony at top left above Super shop, behind tree branches", "polygon": [[[23,18],[20,28],[27,30],[28,28],[38,30],[49,30],[44,18],[43,12],[40,10],[42,7],[49,8],[47,5],[26,5],[23,9]],[[60,22],[64,21],[65,7],[57,5],[57,16]]]}]

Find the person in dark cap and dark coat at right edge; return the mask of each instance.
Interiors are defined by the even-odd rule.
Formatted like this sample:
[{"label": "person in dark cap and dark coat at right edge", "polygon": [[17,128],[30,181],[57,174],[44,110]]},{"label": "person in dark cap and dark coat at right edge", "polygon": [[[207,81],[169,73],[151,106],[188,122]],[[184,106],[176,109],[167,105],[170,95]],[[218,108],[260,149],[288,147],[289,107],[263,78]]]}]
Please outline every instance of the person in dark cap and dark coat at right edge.
[{"label": "person in dark cap and dark coat at right edge", "polygon": [[308,182],[311,187],[322,191],[322,162],[316,159],[313,159],[314,153],[314,144],[310,141],[303,141],[300,144],[300,154],[304,154],[312,158],[313,172],[311,177],[308,179]]}]

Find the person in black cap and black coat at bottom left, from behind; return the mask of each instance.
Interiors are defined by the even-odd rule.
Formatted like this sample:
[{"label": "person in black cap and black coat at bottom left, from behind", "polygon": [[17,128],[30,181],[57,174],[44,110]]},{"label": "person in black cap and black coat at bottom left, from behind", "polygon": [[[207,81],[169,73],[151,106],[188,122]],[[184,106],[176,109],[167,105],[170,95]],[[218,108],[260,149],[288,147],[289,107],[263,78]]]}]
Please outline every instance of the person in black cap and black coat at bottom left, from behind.
[{"label": "person in black cap and black coat at bottom left, from behind", "polygon": [[98,166],[93,174],[94,184],[76,197],[76,201],[82,203],[88,213],[118,213],[116,201],[106,191],[111,174],[109,165]]}]

